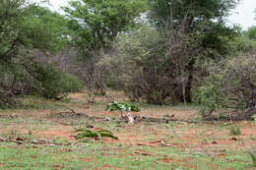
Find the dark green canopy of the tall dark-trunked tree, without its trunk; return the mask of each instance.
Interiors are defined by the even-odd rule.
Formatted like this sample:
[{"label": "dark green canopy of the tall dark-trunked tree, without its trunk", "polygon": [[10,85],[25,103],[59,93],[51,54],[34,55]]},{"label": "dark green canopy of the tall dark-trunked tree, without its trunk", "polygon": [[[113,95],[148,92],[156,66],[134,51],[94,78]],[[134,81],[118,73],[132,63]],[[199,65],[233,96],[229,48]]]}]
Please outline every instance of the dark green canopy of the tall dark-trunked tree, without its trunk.
[{"label": "dark green canopy of the tall dark-trunked tree, without its trunk", "polygon": [[157,26],[188,34],[196,39],[204,50],[210,48],[216,54],[227,52],[224,44],[226,40],[234,37],[235,31],[233,28],[226,27],[224,20],[238,0],[149,1],[150,18]]}]

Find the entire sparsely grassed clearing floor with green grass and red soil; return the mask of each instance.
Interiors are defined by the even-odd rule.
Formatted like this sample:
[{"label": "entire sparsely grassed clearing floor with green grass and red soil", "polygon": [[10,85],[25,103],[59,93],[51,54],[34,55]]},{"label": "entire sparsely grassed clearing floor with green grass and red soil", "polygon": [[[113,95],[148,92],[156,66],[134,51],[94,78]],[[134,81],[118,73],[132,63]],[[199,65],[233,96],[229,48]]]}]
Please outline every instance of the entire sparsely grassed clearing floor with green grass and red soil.
[{"label": "entire sparsely grassed clearing floor with green grass and red soil", "polygon": [[[24,102],[34,106],[39,103],[35,110],[0,111],[0,126],[4,127],[0,130],[0,138],[6,140],[0,142],[0,169],[254,168],[254,159],[248,154],[248,147],[255,145],[254,122],[141,122],[129,126],[124,122],[112,121],[119,114],[107,111],[95,115],[96,118],[103,116],[107,119],[48,117],[48,114],[58,114],[68,107],[94,115],[107,104],[101,101],[88,108],[82,99],[73,97],[71,102],[56,102],[31,97]],[[158,116],[171,116],[172,113],[174,118],[191,109],[139,105],[143,107],[140,114],[149,114],[151,111],[158,113]],[[76,127],[85,128],[76,132]],[[238,127],[242,134],[230,137],[233,127]],[[108,131],[102,132],[105,129]],[[113,136],[113,139],[100,138],[105,134]],[[78,141],[83,142],[76,141],[75,135],[80,138]],[[100,140],[86,140],[87,136]],[[19,144],[12,140],[24,142]],[[73,144],[65,145],[70,142]]]}]

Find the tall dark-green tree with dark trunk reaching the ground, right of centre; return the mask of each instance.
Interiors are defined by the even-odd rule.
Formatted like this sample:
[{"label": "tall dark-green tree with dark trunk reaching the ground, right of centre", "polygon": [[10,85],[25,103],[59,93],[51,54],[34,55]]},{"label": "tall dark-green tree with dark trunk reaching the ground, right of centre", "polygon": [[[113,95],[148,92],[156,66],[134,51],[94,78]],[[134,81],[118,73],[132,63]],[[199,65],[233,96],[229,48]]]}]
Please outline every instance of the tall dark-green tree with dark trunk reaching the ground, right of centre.
[{"label": "tall dark-green tree with dark trunk reaching the ground, right of centre", "polygon": [[189,39],[189,73],[186,101],[192,101],[191,88],[195,62],[201,57],[218,59],[228,53],[228,41],[235,30],[224,25],[228,12],[238,0],[149,0],[150,19],[162,31],[176,31]]}]

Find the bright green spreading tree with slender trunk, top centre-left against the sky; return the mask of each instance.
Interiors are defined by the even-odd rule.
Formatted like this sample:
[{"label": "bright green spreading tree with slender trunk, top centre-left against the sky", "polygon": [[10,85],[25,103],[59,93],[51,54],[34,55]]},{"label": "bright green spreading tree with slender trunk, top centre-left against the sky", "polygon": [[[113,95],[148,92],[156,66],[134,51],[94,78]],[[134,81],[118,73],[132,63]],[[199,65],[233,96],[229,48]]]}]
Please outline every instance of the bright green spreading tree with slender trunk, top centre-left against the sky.
[{"label": "bright green spreading tree with slender trunk, top centre-left against the sky", "polygon": [[71,0],[63,9],[73,30],[71,42],[80,49],[83,80],[96,93],[104,94],[102,80],[106,73],[96,68],[96,63],[102,51],[104,54],[112,51],[111,44],[120,32],[136,28],[147,9],[146,0]]}]

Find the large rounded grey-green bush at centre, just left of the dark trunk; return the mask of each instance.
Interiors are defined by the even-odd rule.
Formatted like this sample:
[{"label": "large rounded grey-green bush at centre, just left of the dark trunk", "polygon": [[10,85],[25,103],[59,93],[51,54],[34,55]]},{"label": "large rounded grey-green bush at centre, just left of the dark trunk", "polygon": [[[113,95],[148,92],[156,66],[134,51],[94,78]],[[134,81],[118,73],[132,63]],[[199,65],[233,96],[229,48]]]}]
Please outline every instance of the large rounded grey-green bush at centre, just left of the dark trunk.
[{"label": "large rounded grey-green bush at centre, just left of the dark trunk", "polygon": [[171,33],[180,40],[175,38],[171,43],[165,34],[147,26],[122,34],[115,44],[115,53],[100,61],[109,68],[112,83],[121,86],[132,101],[164,104],[182,98],[181,80],[187,77],[183,71],[189,59],[181,55],[187,40],[181,33]]}]

